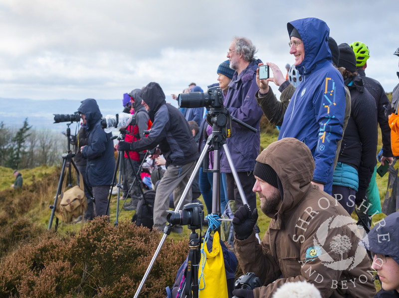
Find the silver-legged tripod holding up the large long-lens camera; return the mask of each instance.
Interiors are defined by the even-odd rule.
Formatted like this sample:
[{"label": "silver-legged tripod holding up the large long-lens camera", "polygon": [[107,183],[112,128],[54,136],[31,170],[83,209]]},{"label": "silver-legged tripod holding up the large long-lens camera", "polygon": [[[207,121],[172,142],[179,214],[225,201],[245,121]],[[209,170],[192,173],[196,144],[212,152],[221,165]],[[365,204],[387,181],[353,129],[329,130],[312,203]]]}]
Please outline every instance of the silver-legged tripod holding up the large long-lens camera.
[{"label": "silver-legged tripod holding up the large long-lens camera", "polygon": [[[220,90],[220,92],[221,92],[221,90]],[[229,112],[228,112],[227,108],[225,108],[223,105],[221,105],[221,107],[217,107],[217,108],[211,107],[208,112],[207,117],[210,118],[208,123],[212,124],[212,134],[208,137],[208,139],[206,141],[206,145],[200,154],[200,158],[199,158],[196,166],[194,167],[193,173],[189,179],[189,182],[186,185],[186,188],[183,191],[182,197],[180,198],[180,201],[175,208],[175,212],[177,212],[178,210],[181,210],[184,199],[186,198],[187,193],[189,191],[191,191],[191,186],[193,184],[194,178],[197,175],[197,173],[199,172],[201,163],[205,160],[205,156],[208,154],[208,152],[214,151],[213,170],[212,170],[212,172],[213,172],[212,214],[220,215],[220,155],[219,155],[220,148],[223,148],[224,153],[226,154],[226,157],[227,157],[228,163],[230,165],[230,168],[231,168],[231,171],[232,171],[232,174],[234,177],[234,181],[237,185],[238,192],[241,196],[242,202],[244,204],[248,203],[246,200],[245,194],[244,194],[244,190],[243,190],[240,180],[238,178],[237,171],[234,167],[234,163],[231,158],[230,151],[229,151],[228,146],[225,141],[226,126],[230,120],[230,124],[231,124],[231,121],[234,121],[235,123],[251,130],[252,132],[257,132],[257,130],[252,128],[251,126],[239,121],[238,119],[229,116]],[[205,160],[205,162],[206,162],[206,160]],[[204,168],[208,168],[208,164],[204,163]],[[172,225],[169,224],[165,227],[164,235],[162,236],[161,241],[154,253],[154,256],[147,268],[147,271],[144,274],[144,277],[140,282],[140,285],[135,293],[134,298],[139,297],[140,292],[151,272],[151,269],[153,268],[153,266],[155,264],[155,260],[157,259],[159,253],[161,252],[162,246],[164,245],[167,236],[171,233],[171,230],[172,230]],[[256,238],[258,239],[258,241],[260,243],[260,237],[257,232],[256,232]],[[198,274],[197,274],[197,276],[198,276]]]}]

